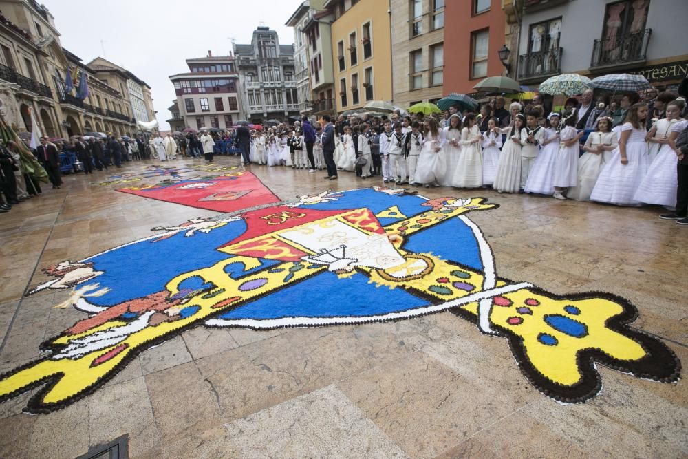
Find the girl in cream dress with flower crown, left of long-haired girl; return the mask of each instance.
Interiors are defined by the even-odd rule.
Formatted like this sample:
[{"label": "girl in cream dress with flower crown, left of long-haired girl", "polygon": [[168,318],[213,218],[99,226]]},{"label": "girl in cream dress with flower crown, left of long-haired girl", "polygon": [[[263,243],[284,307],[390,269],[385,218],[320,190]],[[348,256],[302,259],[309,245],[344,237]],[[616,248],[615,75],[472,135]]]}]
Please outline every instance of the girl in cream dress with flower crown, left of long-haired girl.
[{"label": "girl in cream dress with flower crown, left of long-haired girl", "polygon": [[566,197],[577,201],[589,201],[602,169],[612,159],[612,151],[619,142],[612,132],[612,118],[597,118],[597,130],[588,136],[583,146],[583,156],[578,159],[578,184],[568,190]]}]

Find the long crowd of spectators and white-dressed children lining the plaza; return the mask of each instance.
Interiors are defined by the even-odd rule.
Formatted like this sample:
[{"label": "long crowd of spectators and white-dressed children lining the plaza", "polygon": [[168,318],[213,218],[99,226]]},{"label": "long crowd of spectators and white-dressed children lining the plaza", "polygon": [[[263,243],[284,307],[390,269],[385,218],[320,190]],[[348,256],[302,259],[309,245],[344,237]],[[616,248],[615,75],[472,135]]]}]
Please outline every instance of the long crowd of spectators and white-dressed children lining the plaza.
[{"label": "long crowd of spectators and white-dressed children lining the plaza", "polygon": [[[53,188],[61,186],[60,153],[74,153],[78,170],[93,173],[123,161],[181,156],[213,161],[236,154],[243,164],[341,171],[365,180],[409,186],[490,187],[499,193],[550,195],[558,200],[596,201],[619,206],[656,204],[661,215],[688,224],[688,118],[685,99],[649,89],[609,100],[592,89],[552,111],[537,94],[527,105],[503,97],[480,105],[478,113],[455,105],[442,115],[390,114],[304,116],[285,123],[224,134],[202,130],[186,136],[149,139],[74,136],[63,142],[41,138],[33,152]],[[41,193],[39,183],[17,171],[14,142],[0,149],[0,211]],[[10,175],[16,175],[10,180]]]}]

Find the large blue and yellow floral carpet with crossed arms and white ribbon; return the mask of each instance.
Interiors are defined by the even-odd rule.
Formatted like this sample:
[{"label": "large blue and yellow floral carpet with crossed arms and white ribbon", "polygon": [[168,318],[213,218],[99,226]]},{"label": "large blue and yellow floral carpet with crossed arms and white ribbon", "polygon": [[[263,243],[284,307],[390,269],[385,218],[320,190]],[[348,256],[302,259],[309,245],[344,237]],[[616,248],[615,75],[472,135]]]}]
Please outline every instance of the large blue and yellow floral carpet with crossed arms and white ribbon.
[{"label": "large blue and yellow floral carpet with crossed arms and white ribbon", "polygon": [[140,352],[197,326],[384,327],[444,311],[475,323],[475,333],[503,339],[525,378],[562,403],[601,391],[598,364],[678,379],[674,352],[628,326],[637,310],[625,299],[561,297],[500,278],[469,220],[495,207],[483,198],[428,200],[380,188],[325,192],[155,228],[150,237],[52,266],[45,272],[54,279],[32,292],[71,288],[65,306],[84,318],[45,341],[41,359],[0,376],[0,398],[41,387],[26,410],[61,409]]}]

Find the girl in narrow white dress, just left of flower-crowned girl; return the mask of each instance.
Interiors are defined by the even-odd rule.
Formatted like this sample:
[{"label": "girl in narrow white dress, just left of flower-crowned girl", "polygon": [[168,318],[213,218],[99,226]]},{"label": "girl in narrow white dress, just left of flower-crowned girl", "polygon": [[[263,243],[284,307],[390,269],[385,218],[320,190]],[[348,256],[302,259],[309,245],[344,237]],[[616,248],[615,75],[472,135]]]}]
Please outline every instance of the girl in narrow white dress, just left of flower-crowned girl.
[{"label": "girl in narrow white dress, just left of flower-crowned girl", "polygon": [[583,136],[576,130],[577,116],[568,113],[563,120],[564,127],[559,131],[559,152],[555,157],[555,173],[552,184],[555,186],[553,198],[565,200],[563,192],[578,184],[578,157],[581,147],[578,140]]}]

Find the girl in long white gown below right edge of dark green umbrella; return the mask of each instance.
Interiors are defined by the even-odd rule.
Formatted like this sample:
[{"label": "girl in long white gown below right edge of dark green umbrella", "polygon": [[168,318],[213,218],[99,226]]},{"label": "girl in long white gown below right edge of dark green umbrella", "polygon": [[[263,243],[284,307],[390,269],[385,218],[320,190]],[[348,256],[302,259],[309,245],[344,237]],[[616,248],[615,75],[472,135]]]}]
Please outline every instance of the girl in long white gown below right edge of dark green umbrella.
[{"label": "girl in long white gown below right edge of dark green umbrella", "polygon": [[456,188],[479,188],[482,186],[482,134],[475,122],[475,114],[469,113],[461,129],[461,153],[456,164],[451,186]]}]

